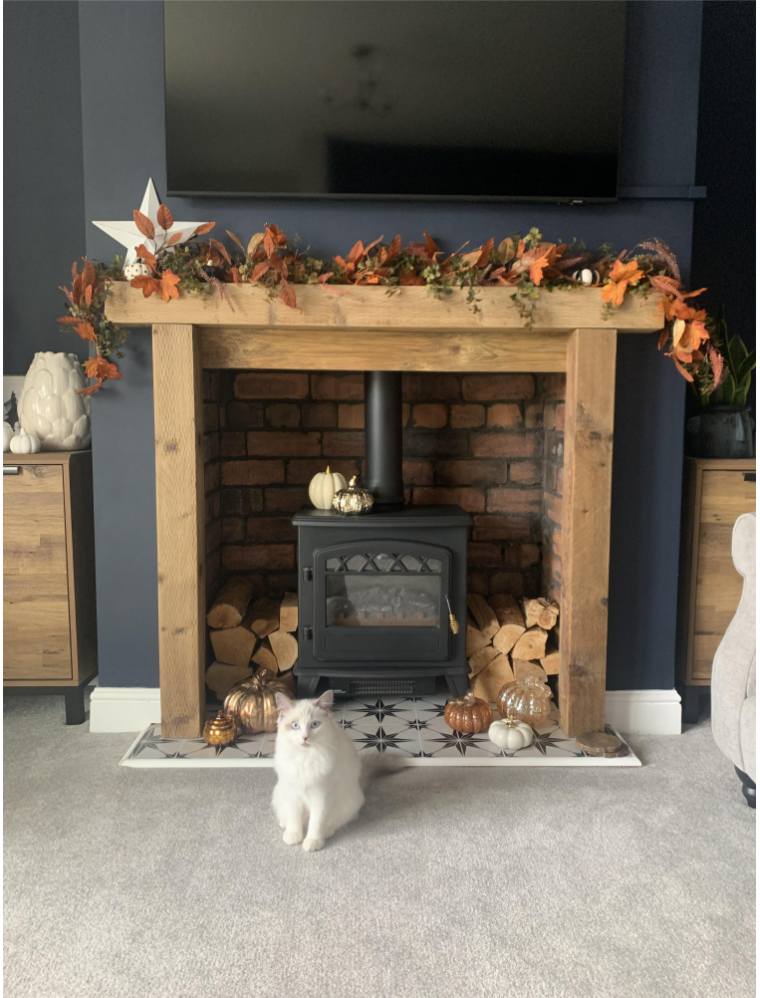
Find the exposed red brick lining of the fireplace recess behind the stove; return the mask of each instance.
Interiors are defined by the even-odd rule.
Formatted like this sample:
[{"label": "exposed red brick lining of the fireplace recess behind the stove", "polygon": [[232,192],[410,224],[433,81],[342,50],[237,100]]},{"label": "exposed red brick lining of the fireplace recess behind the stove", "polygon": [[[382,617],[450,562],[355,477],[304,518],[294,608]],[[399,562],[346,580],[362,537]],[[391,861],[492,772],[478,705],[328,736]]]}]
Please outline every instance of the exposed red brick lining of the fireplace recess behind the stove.
[{"label": "exposed red brick lining of the fireplace recess behind the stove", "polygon": [[[473,514],[470,588],[558,595],[564,375],[403,376],[404,485],[415,505]],[[313,475],[364,472],[364,375],[204,372],[208,592],[243,572],[297,587],[292,514]]]}]

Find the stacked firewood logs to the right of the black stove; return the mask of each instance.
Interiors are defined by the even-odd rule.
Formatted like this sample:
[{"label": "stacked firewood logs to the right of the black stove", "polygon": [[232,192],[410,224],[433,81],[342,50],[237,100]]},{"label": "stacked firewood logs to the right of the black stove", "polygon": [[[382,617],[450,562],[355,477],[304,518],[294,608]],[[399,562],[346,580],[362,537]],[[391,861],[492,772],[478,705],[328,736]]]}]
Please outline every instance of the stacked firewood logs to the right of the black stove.
[{"label": "stacked firewood logs to the right of the black stove", "polygon": [[559,606],[546,599],[467,596],[470,689],[493,703],[505,683],[559,672]]}]

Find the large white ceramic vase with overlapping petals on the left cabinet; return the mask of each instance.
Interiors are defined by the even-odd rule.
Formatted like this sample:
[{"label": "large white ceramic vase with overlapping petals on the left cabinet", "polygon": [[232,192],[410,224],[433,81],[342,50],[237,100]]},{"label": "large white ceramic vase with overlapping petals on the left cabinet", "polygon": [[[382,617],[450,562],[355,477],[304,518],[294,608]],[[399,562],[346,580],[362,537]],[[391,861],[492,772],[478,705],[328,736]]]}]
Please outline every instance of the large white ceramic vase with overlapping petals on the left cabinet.
[{"label": "large white ceramic vase with overlapping petals on the left cabinet", "polygon": [[90,445],[90,398],[73,353],[36,353],[18,403],[22,429],[36,433],[43,450],[82,450]]}]

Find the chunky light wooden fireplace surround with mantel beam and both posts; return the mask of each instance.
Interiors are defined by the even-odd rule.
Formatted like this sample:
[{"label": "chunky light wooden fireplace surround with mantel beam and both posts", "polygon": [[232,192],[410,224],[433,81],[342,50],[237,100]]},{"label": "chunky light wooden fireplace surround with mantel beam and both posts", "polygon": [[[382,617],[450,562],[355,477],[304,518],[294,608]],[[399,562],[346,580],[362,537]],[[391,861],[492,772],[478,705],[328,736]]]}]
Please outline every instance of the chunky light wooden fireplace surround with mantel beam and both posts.
[{"label": "chunky light wooden fireplace surround with mantel beam and both posts", "polygon": [[560,724],[601,727],[617,333],[662,329],[659,297],[629,296],[611,329],[599,289],[543,291],[526,329],[509,288],[479,289],[478,312],[464,292],[425,288],[299,286],[298,311],[261,288],[226,291],[229,303],[165,304],[118,283],[106,304],[116,323],[153,327],[162,733],[197,737],[205,714],[204,368],[566,372]]}]

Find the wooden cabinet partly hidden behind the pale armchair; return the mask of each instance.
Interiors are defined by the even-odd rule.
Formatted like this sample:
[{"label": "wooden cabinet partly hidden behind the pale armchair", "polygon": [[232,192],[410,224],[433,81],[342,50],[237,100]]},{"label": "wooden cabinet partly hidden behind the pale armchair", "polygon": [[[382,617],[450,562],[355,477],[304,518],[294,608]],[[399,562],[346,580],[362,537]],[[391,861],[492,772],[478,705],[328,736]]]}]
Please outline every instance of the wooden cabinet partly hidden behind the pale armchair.
[{"label": "wooden cabinet partly hidden behind the pale armchair", "polygon": [[687,723],[741,598],[731,532],[754,509],[754,460],[685,459],[677,664]]}]

